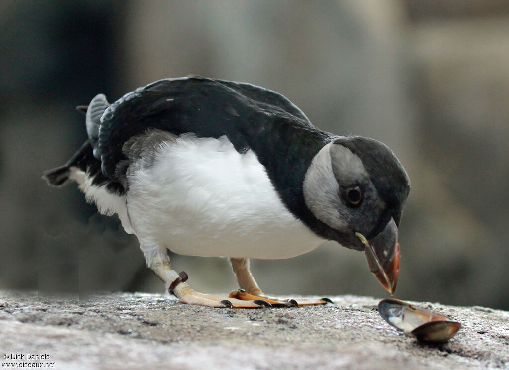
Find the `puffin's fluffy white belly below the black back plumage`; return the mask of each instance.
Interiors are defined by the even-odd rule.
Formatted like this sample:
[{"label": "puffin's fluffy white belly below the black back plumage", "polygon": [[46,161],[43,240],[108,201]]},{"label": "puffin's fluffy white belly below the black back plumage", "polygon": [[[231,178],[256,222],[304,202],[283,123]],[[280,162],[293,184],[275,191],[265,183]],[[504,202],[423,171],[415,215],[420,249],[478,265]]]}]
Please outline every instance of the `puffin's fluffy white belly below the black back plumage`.
[{"label": "puffin's fluffy white belly below the black back plumage", "polygon": [[150,162],[128,171],[127,209],[144,251],[280,259],[323,242],[287,211],[256,155],[224,136],[179,136]]}]

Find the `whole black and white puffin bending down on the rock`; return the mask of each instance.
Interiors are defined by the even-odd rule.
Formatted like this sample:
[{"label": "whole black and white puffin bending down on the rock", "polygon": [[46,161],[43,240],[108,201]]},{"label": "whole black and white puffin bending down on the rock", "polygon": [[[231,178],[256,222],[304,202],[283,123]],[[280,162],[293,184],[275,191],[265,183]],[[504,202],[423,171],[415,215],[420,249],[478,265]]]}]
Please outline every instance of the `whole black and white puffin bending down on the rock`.
[{"label": "whole black and white puffin bending down on the rock", "polygon": [[[76,108],[88,139],[43,179],[53,187],[75,182],[101,214],[118,215],[181,303],[331,302],[267,296],[249,269],[249,259],[292,258],[327,240],[364,251],[394,293],[410,182],[380,141],[322,131],[274,91],[195,75],[157,80],[112,104],[99,94]],[[229,258],[239,288],[228,296],[194,291],[166,249]]]}]

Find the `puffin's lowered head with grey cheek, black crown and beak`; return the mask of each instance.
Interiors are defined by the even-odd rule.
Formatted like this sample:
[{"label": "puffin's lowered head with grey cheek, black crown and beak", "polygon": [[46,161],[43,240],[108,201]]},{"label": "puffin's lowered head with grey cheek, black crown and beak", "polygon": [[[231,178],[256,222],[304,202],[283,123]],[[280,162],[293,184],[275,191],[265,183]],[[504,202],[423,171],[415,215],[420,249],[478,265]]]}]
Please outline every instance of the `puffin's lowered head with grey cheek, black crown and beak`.
[{"label": "puffin's lowered head with grey cheek, black crown and beak", "polygon": [[306,206],[334,233],[364,250],[370,270],[393,294],[398,281],[398,225],[410,190],[405,169],[380,141],[343,136],[313,158],[303,184]]}]

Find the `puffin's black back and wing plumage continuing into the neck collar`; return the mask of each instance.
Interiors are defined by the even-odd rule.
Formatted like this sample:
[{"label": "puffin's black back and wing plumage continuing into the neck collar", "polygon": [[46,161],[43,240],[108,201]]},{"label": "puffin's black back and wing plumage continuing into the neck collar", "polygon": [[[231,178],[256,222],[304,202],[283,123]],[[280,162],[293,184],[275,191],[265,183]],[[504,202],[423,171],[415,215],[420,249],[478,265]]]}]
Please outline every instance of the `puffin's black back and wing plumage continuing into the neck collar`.
[{"label": "puffin's black back and wing plumage continuing into the neck collar", "polygon": [[324,238],[341,236],[306,207],[302,190],[313,157],[334,137],[316,129],[284,96],[249,83],[205,77],[162,79],[111,104],[99,130],[102,173],[119,181],[124,143],[147,129],[199,137],[227,136],[239,153],[251,149],[282,202]]}]

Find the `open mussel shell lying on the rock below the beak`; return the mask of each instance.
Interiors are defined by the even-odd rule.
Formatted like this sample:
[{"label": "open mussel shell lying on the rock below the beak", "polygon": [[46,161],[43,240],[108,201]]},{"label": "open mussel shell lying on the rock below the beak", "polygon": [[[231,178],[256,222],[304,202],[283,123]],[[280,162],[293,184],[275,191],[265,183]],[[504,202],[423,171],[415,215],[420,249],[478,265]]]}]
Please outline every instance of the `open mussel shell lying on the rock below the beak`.
[{"label": "open mussel shell lying on the rock below the beak", "polygon": [[428,309],[416,308],[398,299],[383,299],[378,304],[380,316],[406,335],[419,340],[444,342],[452,338],[461,324]]}]

